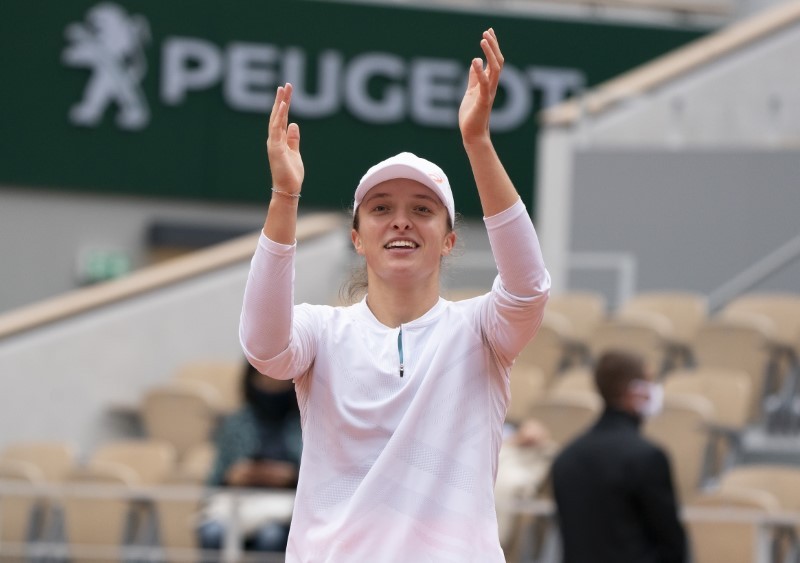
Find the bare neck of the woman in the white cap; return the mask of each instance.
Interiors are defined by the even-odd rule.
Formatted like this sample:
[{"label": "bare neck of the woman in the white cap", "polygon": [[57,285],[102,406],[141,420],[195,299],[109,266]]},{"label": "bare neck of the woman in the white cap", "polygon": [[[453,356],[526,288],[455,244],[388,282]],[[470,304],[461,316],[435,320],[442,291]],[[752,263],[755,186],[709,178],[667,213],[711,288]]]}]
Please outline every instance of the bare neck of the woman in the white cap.
[{"label": "bare neck of the woman in the white cap", "polygon": [[389,327],[420,318],[439,301],[438,280],[435,285],[409,285],[391,288],[377,280],[370,280],[367,306],[375,318]]}]

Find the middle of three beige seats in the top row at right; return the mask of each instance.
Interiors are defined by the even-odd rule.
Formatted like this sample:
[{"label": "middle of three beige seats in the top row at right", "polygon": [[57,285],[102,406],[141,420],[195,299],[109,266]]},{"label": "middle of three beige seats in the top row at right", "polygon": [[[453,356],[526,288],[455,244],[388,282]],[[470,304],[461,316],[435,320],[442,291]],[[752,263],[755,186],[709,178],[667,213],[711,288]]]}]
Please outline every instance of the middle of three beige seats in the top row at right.
[{"label": "middle of three beige seats in the top row at right", "polygon": [[670,323],[667,337],[671,360],[675,365],[690,365],[691,344],[697,330],[708,320],[708,299],[690,291],[647,291],[627,300],[617,312],[626,317],[639,313],[656,313]]}]

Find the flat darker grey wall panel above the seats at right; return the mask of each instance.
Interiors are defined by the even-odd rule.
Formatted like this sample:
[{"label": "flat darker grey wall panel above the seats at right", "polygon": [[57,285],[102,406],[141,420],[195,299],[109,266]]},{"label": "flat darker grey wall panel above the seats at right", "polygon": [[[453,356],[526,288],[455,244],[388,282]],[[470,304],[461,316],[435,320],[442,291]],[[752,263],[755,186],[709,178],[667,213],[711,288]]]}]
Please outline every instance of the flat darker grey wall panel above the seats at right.
[{"label": "flat darker grey wall panel above the seats at right", "polygon": [[[579,150],[571,249],[634,257],[636,290],[713,292],[800,234],[800,151]],[[604,291],[602,270],[570,272],[571,288]],[[758,290],[800,290],[800,260]]]}]

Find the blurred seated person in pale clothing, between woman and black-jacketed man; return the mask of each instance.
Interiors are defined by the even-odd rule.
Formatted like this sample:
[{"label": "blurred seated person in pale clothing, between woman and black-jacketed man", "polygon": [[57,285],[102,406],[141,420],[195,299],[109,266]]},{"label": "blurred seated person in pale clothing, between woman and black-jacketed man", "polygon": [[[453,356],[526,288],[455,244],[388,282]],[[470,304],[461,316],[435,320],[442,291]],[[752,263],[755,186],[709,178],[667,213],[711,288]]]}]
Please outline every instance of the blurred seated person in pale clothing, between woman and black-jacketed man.
[{"label": "blurred seated person in pale clothing, between woman and black-jacketed man", "polygon": [[500,545],[511,548],[518,518],[513,511],[517,500],[534,498],[550,471],[556,444],[550,431],[538,420],[529,418],[517,427],[508,425],[500,448],[495,481],[495,506]]}]

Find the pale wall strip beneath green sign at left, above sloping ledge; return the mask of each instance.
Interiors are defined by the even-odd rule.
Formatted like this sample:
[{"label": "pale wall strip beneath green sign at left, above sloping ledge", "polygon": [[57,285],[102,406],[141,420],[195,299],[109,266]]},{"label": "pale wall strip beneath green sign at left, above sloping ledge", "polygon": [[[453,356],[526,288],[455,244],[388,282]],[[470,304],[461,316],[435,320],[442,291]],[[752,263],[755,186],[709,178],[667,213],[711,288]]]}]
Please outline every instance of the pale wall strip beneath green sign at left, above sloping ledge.
[{"label": "pale wall strip beneath green sign at left, above sloping ledge", "polygon": [[77,287],[87,250],[122,253],[133,268],[146,264],[155,220],[257,231],[264,201],[230,206],[0,188],[0,312]]}]

